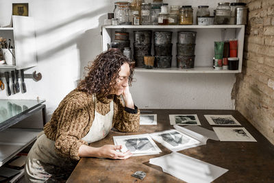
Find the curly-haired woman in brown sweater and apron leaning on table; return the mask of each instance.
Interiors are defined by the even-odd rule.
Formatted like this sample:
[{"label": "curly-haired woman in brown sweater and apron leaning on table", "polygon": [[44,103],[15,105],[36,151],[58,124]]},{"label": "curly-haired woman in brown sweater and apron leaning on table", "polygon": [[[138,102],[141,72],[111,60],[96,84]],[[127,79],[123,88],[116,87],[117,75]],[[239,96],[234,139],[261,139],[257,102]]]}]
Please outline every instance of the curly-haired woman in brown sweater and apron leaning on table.
[{"label": "curly-haired woman in brown sweater and apron leaning on table", "polygon": [[121,132],[138,131],[140,111],[129,93],[130,61],[121,51],[111,49],[97,56],[87,69],[88,75],[64,97],[29,151],[27,182],[62,182],[81,157],[132,156],[130,151],[116,151],[120,145],[88,146],[105,138],[112,127]]}]

